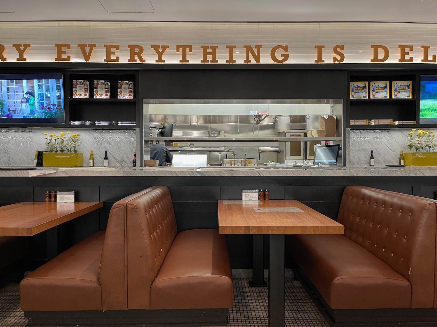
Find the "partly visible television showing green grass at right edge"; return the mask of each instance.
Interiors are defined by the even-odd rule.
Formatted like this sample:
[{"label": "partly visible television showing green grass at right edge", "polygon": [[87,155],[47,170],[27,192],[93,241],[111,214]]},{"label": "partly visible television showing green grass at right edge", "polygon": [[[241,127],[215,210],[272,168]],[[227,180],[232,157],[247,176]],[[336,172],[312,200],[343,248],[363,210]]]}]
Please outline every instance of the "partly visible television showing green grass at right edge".
[{"label": "partly visible television showing green grass at right edge", "polygon": [[420,76],[421,124],[437,124],[437,75]]}]

